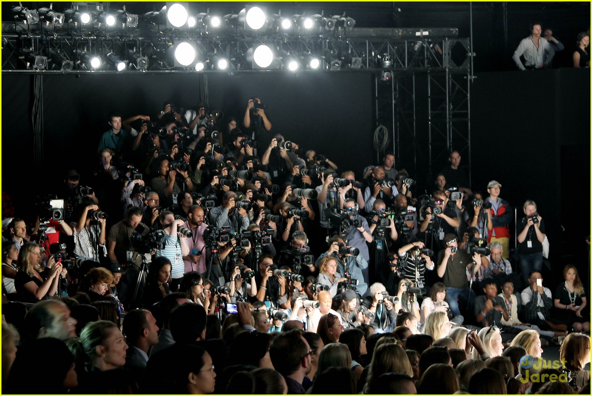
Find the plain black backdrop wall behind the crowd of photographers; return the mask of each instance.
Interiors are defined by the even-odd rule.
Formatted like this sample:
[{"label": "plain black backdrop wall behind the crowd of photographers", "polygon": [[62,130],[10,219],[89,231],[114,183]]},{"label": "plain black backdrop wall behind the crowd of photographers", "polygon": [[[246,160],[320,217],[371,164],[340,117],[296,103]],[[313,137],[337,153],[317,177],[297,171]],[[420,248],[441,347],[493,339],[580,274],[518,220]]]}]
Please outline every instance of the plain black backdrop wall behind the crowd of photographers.
[{"label": "plain black backdrop wall behind the crowd of photographers", "polygon": [[[2,190],[17,210],[63,179],[64,170],[94,166],[108,112],[153,116],[169,98],[191,107],[200,92],[195,74],[43,76],[44,165],[35,169],[32,81],[31,75],[2,75]],[[272,131],[359,175],[376,156],[373,84],[363,72],[210,73],[209,105],[242,119],[247,98],[258,95],[269,105]],[[471,92],[473,189],[485,192],[496,179],[501,197],[520,208],[519,217],[525,199],[538,202],[556,268],[561,259],[587,259],[590,71],[480,73]]]}]

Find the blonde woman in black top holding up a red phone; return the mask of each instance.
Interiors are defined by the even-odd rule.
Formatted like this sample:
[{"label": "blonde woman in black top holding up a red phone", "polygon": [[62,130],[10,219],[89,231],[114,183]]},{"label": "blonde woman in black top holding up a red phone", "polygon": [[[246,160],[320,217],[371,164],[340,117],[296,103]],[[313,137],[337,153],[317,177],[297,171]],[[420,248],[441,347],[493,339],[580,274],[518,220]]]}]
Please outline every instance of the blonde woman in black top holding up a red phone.
[{"label": "blonde woman in black top holding up a red phone", "polygon": [[41,267],[41,251],[36,243],[21,246],[14,278],[18,301],[35,303],[56,294],[60,275],[66,276],[67,271],[62,263],[56,263],[53,255],[47,259],[47,268],[49,271],[43,271]]}]

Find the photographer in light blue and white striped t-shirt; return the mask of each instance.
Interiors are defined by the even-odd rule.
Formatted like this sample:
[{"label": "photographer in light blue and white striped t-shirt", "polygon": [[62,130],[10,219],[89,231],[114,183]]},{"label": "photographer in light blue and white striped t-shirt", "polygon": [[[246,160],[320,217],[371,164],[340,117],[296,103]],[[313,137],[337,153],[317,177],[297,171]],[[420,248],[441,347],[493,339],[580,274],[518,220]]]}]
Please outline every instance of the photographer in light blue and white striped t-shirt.
[{"label": "photographer in light blue and white striped t-shirt", "polygon": [[169,259],[172,265],[170,271],[170,289],[177,291],[181,283],[181,278],[183,278],[183,274],[185,273],[183,256],[189,254],[185,233],[178,232],[177,227],[182,226],[185,228],[185,226],[183,220],[175,220],[175,215],[169,210],[160,212],[159,219],[162,224],[162,230],[168,236],[165,240],[165,249],[157,249],[155,257],[164,256]]}]

